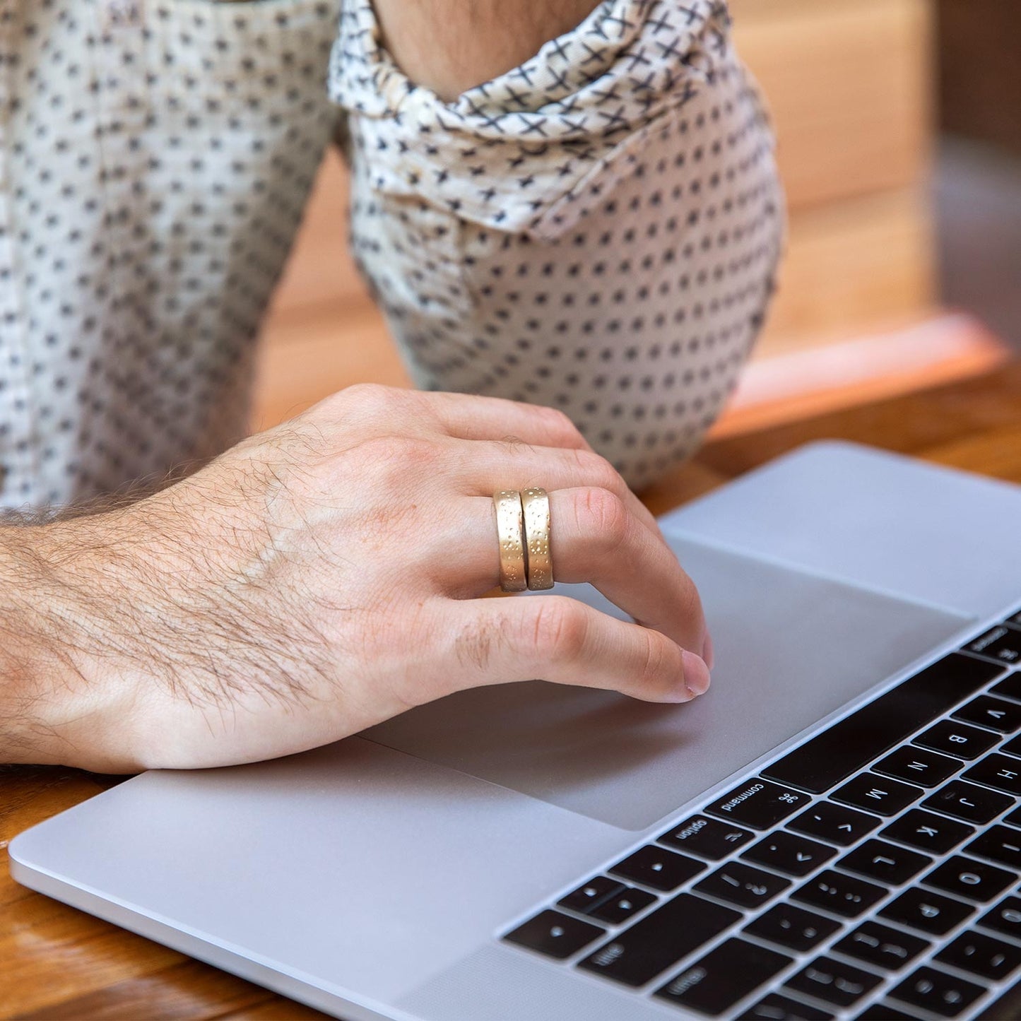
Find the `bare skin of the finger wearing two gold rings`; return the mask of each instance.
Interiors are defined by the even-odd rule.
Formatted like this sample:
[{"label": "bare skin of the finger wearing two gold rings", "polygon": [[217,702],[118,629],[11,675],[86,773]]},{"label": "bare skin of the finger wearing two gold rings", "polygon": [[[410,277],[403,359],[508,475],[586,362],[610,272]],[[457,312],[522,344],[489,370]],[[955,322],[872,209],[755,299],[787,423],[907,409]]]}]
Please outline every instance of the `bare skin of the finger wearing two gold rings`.
[{"label": "bare skin of the finger wearing two gold rings", "polygon": [[[467,516],[458,516],[456,541],[442,540],[446,551],[433,557],[442,588],[463,598],[492,588],[499,577],[492,500],[475,497],[473,504]],[[666,542],[642,528],[616,494],[591,487],[556,489],[549,493],[549,516],[557,581],[590,582],[637,623],[708,654],[694,583]]]}]

